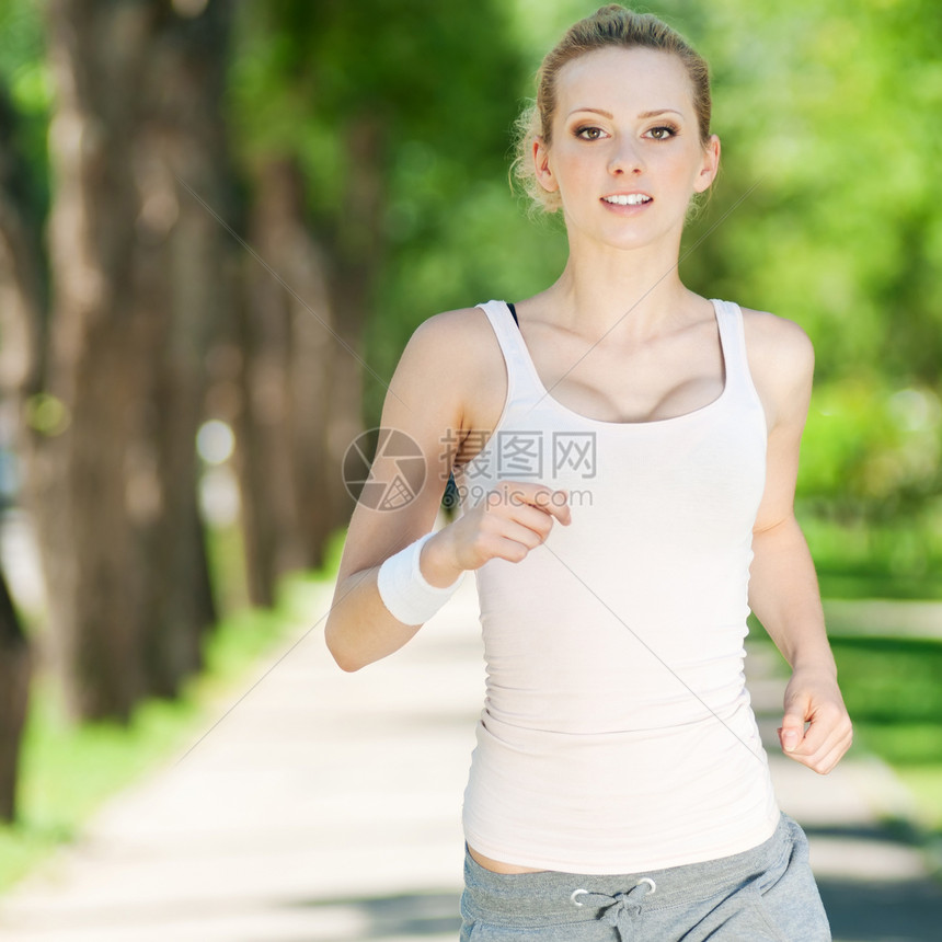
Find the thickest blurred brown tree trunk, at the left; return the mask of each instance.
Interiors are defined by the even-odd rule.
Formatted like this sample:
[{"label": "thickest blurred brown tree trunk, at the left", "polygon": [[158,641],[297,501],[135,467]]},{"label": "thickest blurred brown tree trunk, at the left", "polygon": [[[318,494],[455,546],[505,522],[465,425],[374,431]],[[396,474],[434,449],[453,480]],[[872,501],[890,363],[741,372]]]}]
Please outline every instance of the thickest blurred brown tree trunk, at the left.
[{"label": "thickest blurred brown tree trunk, at the left", "polygon": [[142,697],[175,692],[212,618],[194,439],[229,237],[186,186],[230,208],[217,182],[220,9],[48,7],[46,388],[69,422],[31,476],[54,663],[76,716],[127,719]]}]

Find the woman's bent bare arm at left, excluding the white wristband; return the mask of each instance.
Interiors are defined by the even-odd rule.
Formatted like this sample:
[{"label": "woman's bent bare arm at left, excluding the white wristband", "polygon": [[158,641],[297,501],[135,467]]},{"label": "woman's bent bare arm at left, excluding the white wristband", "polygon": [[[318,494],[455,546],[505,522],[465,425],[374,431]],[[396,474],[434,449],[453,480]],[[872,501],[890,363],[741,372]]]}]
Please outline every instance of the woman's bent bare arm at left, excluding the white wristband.
[{"label": "woman's bent bare arm at left, excluding the white wristband", "polygon": [[[422,627],[404,624],[390,613],[377,588],[377,574],[389,556],[435,524],[451,473],[455,439],[464,423],[467,390],[474,388],[473,363],[469,366],[473,344],[470,347],[468,312],[438,314],[415,330],[393,374],[380,425],[418,445],[425,483],[395,509],[374,509],[360,502],[354,508],[324,628],[328,647],[344,670],[357,670],[399,651]],[[381,481],[392,480],[395,471],[395,459],[386,455],[377,456],[371,469]],[[553,516],[568,521],[568,507],[549,501],[550,487],[504,482],[499,491],[495,492],[499,499],[482,502],[423,547],[420,568],[430,585],[451,585],[466,570],[495,556],[519,561],[545,539]]]}]

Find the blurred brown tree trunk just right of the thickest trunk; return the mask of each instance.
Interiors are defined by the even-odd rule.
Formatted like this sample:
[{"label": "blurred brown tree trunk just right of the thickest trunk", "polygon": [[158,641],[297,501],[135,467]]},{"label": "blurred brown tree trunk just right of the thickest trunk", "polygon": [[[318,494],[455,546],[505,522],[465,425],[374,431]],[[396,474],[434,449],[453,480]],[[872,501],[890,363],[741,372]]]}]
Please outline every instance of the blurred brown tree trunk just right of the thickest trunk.
[{"label": "blurred brown tree trunk just right of the thickest trunk", "polygon": [[245,407],[238,436],[250,597],[256,605],[272,604],[279,576],[320,560],[321,444],[336,344],[323,262],[303,205],[294,161],[269,158],[259,166],[250,241],[272,271],[245,261]]}]

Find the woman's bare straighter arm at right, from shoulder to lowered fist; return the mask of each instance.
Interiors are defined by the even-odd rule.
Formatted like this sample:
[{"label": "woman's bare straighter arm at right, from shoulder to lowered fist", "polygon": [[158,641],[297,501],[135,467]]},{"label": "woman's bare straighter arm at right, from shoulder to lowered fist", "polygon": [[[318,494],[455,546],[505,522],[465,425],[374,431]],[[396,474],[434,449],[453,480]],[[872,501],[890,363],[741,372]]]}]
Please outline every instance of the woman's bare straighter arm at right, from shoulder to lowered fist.
[{"label": "woman's bare straighter arm at right, from shoulder to lowered fist", "polygon": [[[801,436],[814,351],[804,332],[771,314],[749,319],[747,343],[769,420],[766,490],[753,535],[749,604],[792,667],[780,736],[785,753],[829,772],[850,747],[814,563],[794,514]],[[805,731],[805,723],[808,723]]]}]

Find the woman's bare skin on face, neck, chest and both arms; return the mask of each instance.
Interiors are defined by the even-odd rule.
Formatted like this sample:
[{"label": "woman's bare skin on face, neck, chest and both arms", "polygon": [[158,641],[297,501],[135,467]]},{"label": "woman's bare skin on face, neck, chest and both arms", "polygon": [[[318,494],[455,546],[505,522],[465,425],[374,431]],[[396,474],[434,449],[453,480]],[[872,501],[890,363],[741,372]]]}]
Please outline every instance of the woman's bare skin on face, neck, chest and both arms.
[{"label": "woman's bare skin on face, neck, chest and both arms", "polygon": [[[677,260],[688,203],[713,182],[720,140],[713,135],[701,142],[683,66],[659,51],[608,48],[568,62],[558,78],[558,101],[552,142],[538,140],[532,157],[540,185],[562,197],[570,255],[552,286],[517,305],[538,372],[554,399],[593,418],[645,422],[700,409],[722,392],[722,351],[712,305],[681,284]],[[650,112],[658,114],[642,116]],[[602,198],[634,192],[651,203],[616,207]],[[814,565],[794,516],[814,352],[796,324],[743,312],[749,368],[769,429],[749,602],[792,668],[782,748],[824,774],[850,747],[852,732]],[[437,394],[429,397],[429,389]],[[455,457],[440,447],[441,437],[458,430],[459,460],[470,460],[487,436],[469,433],[493,432],[506,390],[499,346],[480,309],[437,314],[410,338],[381,424],[411,435],[430,473],[400,509],[354,510],[325,628],[344,669],[391,654],[421,628],[388,612],[377,571],[434,526]],[[387,460],[374,466],[383,480],[392,474]],[[423,575],[448,586],[491,559],[519,562],[553,526],[577,525],[563,497],[532,482],[502,482],[486,502],[428,540]],[[531,870],[470,852],[497,872]]]}]

